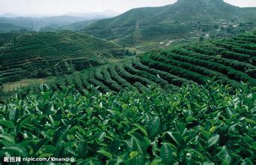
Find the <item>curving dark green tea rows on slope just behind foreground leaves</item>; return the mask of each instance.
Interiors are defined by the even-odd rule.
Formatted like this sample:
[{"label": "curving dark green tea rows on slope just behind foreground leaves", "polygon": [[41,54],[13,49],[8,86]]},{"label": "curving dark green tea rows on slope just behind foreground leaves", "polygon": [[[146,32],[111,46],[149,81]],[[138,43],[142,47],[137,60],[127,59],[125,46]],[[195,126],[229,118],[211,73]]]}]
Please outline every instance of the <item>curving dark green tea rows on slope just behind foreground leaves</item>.
[{"label": "curving dark green tea rows on slope just behind foreground leaves", "polygon": [[225,40],[193,43],[162,52],[152,51],[119,65],[107,65],[86,74],[58,80],[52,86],[62,90],[119,92],[124,88],[147,90],[159,86],[167,92],[179,90],[182,84],[204,84],[215,77],[233,88],[240,83],[256,86],[256,35],[245,34]]}]

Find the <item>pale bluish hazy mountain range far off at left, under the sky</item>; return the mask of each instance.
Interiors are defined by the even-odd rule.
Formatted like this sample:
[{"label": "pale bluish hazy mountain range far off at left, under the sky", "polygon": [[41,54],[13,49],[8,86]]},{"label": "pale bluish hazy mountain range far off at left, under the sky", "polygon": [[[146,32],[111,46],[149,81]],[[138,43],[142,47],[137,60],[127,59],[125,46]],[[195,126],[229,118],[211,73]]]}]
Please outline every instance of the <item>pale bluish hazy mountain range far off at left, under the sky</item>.
[{"label": "pale bluish hazy mountain range far off at left, under the sky", "polygon": [[[0,32],[20,31],[20,29],[34,31],[53,31],[58,30],[59,28],[78,30],[85,28],[86,25],[89,25],[89,23],[93,22],[92,20],[110,18],[116,15],[117,13],[114,13],[110,10],[106,10],[101,13],[68,13],[63,16],[53,17],[39,17],[36,15],[34,17],[19,17],[17,15],[14,15],[13,13],[5,13],[0,15],[0,23],[5,24],[5,30],[0,29]],[[2,26],[3,25],[1,25],[0,27]],[[9,30],[8,26],[10,26]]]}]

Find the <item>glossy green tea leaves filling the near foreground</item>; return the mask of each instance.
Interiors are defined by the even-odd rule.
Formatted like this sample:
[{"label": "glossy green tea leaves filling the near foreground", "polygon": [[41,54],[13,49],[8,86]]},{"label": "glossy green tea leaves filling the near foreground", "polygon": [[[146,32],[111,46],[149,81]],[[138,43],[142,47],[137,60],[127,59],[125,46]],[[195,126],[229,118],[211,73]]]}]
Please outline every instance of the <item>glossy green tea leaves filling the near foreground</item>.
[{"label": "glossy green tea leaves filling the near foreground", "polygon": [[47,86],[0,104],[0,157],[75,157],[80,164],[252,164],[254,90],[207,82],[178,93],[94,94]]}]

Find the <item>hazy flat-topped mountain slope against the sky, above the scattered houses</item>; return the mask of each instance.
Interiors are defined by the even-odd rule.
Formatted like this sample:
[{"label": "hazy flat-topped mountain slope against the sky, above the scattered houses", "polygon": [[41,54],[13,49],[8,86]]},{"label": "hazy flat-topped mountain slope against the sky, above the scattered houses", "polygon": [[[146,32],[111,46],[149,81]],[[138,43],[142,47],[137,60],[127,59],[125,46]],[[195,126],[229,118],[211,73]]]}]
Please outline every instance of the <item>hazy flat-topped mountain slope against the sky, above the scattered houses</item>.
[{"label": "hazy flat-topped mountain slope against the sky, above the scattered houses", "polygon": [[98,20],[84,28],[84,31],[96,37],[112,40],[152,26],[170,26],[180,20],[183,23],[197,23],[237,19],[245,10],[253,8],[236,7],[222,0],[179,0],[162,7],[134,8],[117,17]]}]

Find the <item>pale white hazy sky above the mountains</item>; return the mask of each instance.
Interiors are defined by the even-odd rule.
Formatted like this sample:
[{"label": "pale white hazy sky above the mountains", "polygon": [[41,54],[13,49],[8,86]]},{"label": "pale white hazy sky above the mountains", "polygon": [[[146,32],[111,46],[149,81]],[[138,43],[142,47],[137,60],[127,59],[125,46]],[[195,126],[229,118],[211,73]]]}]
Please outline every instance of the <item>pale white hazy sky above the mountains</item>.
[{"label": "pale white hazy sky above the mountains", "polygon": [[[134,7],[162,6],[176,0],[0,0],[0,13],[59,15],[113,10],[123,13]],[[224,0],[240,7],[256,7],[256,0]]]}]

